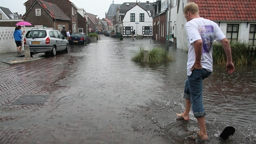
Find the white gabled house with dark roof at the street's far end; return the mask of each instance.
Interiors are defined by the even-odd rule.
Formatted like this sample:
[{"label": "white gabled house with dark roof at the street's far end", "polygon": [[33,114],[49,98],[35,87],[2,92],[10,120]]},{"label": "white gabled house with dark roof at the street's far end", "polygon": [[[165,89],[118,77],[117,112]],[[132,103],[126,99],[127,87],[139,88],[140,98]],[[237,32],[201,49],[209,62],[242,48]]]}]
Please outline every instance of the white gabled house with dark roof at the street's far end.
[{"label": "white gabled house with dark roof at the street's far end", "polygon": [[116,10],[116,30],[123,36],[131,36],[135,30],[136,35],[152,35],[153,3],[123,3]]}]

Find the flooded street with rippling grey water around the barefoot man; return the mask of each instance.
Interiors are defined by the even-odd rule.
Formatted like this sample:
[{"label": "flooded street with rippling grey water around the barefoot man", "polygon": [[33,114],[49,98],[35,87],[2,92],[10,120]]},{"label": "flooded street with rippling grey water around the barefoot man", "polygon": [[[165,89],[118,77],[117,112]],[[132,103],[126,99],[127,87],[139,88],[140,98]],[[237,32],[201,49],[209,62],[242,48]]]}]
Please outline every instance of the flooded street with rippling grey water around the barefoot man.
[{"label": "flooded street with rippling grey water around the barefoot man", "polygon": [[[10,103],[0,115],[18,118],[0,122],[0,129],[27,130],[20,143],[29,144],[256,143],[256,66],[236,66],[232,75],[225,66],[213,66],[203,91],[209,141],[192,140],[188,136],[199,131],[193,113],[188,122],[176,119],[185,108],[187,53],[170,47],[174,61],[140,64],[131,61],[139,45],[148,50],[164,44],[100,36],[56,57],[1,66],[1,83],[16,86],[0,91]],[[50,97],[38,110],[11,109],[22,94]],[[226,126],[236,132],[223,141],[218,136]]]}]

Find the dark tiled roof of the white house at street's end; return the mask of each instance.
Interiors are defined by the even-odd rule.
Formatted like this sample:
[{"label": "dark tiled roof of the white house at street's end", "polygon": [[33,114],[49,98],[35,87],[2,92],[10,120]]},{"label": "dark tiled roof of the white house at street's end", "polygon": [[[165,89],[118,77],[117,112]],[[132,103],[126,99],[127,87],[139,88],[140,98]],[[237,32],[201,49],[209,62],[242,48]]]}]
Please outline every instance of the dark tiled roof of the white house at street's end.
[{"label": "dark tiled roof of the white house at street's end", "polygon": [[154,6],[153,3],[149,3],[149,5],[147,3],[123,3],[120,6],[120,13],[125,14],[127,11],[129,11],[130,9],[132,9],[134,6],[140,6],[142,9],[144,9],[145,11],[150,11],[151,13],[151,17],[154,14]]}]

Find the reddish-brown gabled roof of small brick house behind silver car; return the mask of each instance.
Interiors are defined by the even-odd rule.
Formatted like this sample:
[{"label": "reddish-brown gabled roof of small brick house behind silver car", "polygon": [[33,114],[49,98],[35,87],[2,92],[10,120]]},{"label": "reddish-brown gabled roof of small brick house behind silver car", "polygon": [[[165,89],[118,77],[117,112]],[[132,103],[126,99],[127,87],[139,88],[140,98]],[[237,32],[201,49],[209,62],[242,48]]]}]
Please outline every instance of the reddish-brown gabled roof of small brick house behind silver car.
[{"label": "reddish-brown gabled roof of small brick house behind silver car", "polygon": [[[36,3],[41,4],[42,7],[51,15],[53,19],[70,20],[69,17],[56,4],[48,3],[43,0],[36,0],[34,4]],[[27,13],[30,11],[31,7],[34,6],[34,4],[30,6],[29,10],[24,14],[24,16],[27,15]]]}]

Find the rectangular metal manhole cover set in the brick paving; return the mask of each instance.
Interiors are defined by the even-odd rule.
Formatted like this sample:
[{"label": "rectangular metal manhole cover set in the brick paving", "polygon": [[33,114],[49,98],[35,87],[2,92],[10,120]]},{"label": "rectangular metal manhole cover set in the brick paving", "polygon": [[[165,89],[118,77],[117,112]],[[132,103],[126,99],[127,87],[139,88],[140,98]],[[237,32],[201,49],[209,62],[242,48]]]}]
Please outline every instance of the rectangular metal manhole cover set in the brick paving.
[{"label": "rectangular metal manhole cover set in the brick paving", "polygon": [[24,104],[44,104],[50,94],[24,94],[20,96],[18,100],[15,100],[13,105],[24,105]]}]

